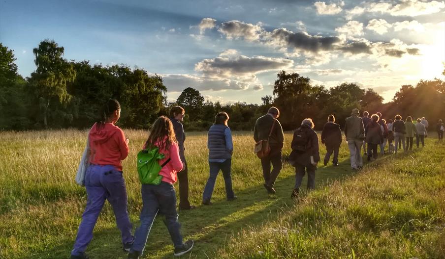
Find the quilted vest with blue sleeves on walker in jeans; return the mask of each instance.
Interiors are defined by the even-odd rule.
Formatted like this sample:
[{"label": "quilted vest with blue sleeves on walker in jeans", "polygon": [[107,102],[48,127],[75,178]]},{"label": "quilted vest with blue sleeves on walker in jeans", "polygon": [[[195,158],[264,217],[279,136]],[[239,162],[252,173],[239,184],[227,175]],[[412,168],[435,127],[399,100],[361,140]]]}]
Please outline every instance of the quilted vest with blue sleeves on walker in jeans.
[{"label": "quilted vest with blue sleeves on walker in jeans", "polygon": [[232,132],[225,125],[216,124],[210,127],[207,147],[209,148],[209,162],[222,163],[232,157]]}]

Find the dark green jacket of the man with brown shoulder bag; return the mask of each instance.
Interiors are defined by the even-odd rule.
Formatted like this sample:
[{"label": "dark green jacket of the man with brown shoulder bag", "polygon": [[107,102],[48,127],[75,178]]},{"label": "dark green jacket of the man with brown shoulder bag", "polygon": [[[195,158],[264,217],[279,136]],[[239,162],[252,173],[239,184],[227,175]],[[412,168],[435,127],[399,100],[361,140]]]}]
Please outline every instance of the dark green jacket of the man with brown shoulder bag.
[{"label": "dark green jacket of the man with brown shoulder bag", "polygon": [[[260,140],[266,140],[269,137],[270,129],[272,129],[272,123],[274,118],[270,114],[259,117],[255,122],[254,140],[258,142]],[[269,139],[271,147],[283,148],[285,141],[285,134],[283,128],[278,120],[275,120],[275,126]]]}]

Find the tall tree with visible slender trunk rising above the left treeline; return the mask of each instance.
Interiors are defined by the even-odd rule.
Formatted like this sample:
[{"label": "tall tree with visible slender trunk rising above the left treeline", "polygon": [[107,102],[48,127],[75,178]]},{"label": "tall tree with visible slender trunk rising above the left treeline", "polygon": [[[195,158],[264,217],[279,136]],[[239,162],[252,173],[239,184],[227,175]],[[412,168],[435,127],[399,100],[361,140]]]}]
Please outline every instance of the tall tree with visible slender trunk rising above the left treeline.
[{"label": "tall tree with visible slender trunk rising above the left treeline", "polygon": [[76,77],[71,63],[65,60],[64,47],[53,40],[43,40],[32,52],[35,55],[34,63],[37,66],[31,74],[31,85],[40,108],[43,110],[43,124],[48,127],[47,117],[50,104],[66,104],[71,95],[66,91],[67,84]]}]

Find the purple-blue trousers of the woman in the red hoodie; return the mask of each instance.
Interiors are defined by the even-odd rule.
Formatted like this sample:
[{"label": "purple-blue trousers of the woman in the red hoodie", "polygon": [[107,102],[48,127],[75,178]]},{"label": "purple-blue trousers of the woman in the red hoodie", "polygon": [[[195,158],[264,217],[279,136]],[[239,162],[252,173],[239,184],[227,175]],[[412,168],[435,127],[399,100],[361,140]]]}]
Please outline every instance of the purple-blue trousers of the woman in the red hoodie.
[{"label": "purple-blue trousers of the woman in the red hoodie", "polygon": [[127,190],[122,172],[112,165],[90,165],[85,173],[87,207],[77,231],[71,255],[80,256],[93,239],[93,229],[105,200],[113,207],[116,224],[122,234],[122,243],[133,240],[127,211]]}]

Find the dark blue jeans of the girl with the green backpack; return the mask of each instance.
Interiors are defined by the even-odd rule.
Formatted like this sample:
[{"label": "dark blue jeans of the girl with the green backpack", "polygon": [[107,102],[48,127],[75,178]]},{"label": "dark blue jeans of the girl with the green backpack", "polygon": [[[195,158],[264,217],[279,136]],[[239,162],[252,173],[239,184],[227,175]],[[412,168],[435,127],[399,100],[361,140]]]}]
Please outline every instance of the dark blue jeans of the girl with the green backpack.
[{"label": "dark blue jeans of the girl with the green backpack", "polygon": [[141,193],[140,226],[134,232],[134,243],[130,252],[137,251],[141,255],[143,254],[148,234],[158,212],[165,215],[164,224],[167,226],[173,245],[175,248],[182,248],[182,236],[179,232],[181,225],[178,222],[176,193],[173,185],[164,181],[161,181],[159,185],[142,184]]}]

